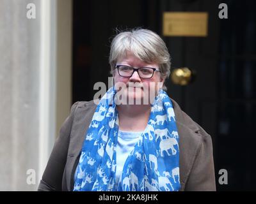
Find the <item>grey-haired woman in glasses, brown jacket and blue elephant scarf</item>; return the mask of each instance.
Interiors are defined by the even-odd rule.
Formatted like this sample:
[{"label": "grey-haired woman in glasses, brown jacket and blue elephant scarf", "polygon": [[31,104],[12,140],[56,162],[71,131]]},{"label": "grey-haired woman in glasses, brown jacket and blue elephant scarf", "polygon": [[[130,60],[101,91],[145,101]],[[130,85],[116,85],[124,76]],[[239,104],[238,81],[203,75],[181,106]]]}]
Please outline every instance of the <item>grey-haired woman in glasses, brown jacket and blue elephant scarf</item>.
[{"label": "grey-haired woman in glasses, brown jacket and blue elephant scarf", "polygon": [[119,33],[109,64],[114,87],[72,106],[38,190],[215,191],[211,136],[164,92],[164,41]]}]

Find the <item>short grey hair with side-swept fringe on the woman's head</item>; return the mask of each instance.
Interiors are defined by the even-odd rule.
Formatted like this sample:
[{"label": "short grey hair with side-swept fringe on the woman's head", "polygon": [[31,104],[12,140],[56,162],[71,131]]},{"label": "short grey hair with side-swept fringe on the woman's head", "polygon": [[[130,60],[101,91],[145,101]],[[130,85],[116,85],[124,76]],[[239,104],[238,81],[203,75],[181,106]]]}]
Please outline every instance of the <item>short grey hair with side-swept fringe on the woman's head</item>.
[{"label": "short grey hair with side-swept fringe on the woman's head", "polygon": [[[125,57],[126,52],[132,52],[141,61],[159,64],[161,77],[170,75],[170,54],[162,38],[148,29],[132,29],[116,34],[111,42],[109,64],[111,74],[115,70],[116,62]],[[163,85],[166,91],[166,86]]]}]

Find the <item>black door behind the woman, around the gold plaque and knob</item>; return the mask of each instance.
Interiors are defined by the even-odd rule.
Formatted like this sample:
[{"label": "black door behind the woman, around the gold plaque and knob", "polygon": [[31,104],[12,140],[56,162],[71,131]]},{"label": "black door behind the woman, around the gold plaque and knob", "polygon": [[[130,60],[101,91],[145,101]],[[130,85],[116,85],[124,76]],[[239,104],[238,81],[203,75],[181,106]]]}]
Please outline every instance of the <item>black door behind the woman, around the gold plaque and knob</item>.
[{"label": "black door behind the woman, around the gold plaque and knob", "polygon": [[[220,3],[228,18],[220,19]],[[206,37],[163,36],[172,70],[188,67],[188,85],[168,80],[168,94],[212,136],[219,191],[255,190],[256,3],[203,0],[74,1],[73,102],[93,98],[95,82],[108,83],[115,29],[143,27],[163,35],[164,11],[205,11]],[[227,170],[228,184],[219,183]]]}]

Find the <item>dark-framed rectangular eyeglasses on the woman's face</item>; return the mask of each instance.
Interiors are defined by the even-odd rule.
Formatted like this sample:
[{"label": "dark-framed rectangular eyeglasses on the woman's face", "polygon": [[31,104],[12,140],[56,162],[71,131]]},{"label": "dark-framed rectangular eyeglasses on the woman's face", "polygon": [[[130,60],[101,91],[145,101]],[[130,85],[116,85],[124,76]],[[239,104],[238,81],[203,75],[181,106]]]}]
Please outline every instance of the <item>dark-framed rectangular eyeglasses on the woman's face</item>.
[{"label": "dark-framed rectangular eyeglasses on the woman's face", "polygon": [[157,68],[133,68],[125,65],[116,65],[116,69],[121,77],[131,77],[137,71],[140,78],[152,78],[155,71],[160,71]]}]

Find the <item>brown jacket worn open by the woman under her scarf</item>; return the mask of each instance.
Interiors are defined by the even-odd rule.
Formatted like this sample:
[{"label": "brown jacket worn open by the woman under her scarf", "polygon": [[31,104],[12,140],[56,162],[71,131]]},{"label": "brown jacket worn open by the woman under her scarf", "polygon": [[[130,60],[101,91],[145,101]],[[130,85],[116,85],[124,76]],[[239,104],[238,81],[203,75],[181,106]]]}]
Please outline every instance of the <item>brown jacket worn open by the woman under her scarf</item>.
[{"label": "brown jacket worn open by the woman under her scarf", "polygon": [[[212,140],[173,101],[180,137],[180,191],[216,191]],[[69,117],[60,129],[38,191],[72,191],[74,172],[84,142],[84,135],[97,105],[81,101],[72,105]]]}]

